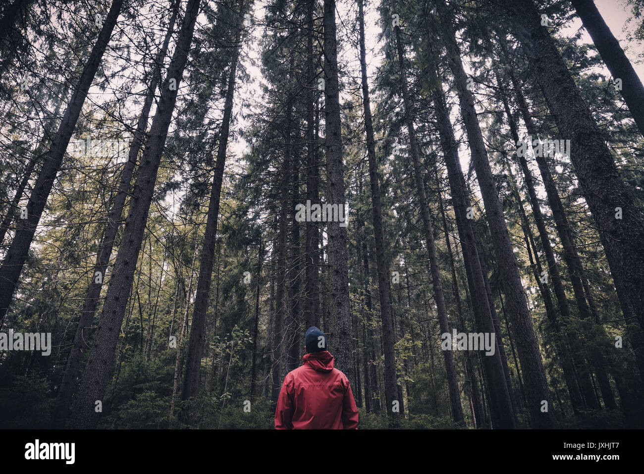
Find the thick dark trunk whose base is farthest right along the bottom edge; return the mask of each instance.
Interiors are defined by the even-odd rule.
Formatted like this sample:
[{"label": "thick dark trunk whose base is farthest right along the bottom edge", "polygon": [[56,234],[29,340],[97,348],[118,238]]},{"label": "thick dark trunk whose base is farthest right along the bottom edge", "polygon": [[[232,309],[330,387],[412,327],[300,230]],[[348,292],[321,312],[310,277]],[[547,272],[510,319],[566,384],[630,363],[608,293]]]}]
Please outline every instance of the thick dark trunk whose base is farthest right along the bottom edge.
[{"label": "thick dark trunk whose base is farthest right along the bottom edge", "polygon": [[[440,17],[443,19],[451,17],[444,0],[437,0],[437,6]],[[515,331],[516,346],[524,372],[528,410],[535,428],[554,428],[553,407],[542,365],[542,356],[536,340],[533,321],[527,308],[521,276],[512,250],[512,242],[507,232],[503,207],[490,169],[488,152],[478,124],[474,96],[467,88],[468,78],[460,59],[460,50],[453,26],[450,23],[442,24],[444,26],[444,40],[448,48],[448,63],[459,93],[460,109],[468,133],[471,157],[483,196],[486,217],[498,263],[506,274],[504,279],[506,306],[509,314],[514,318],[512,328]]]}]

